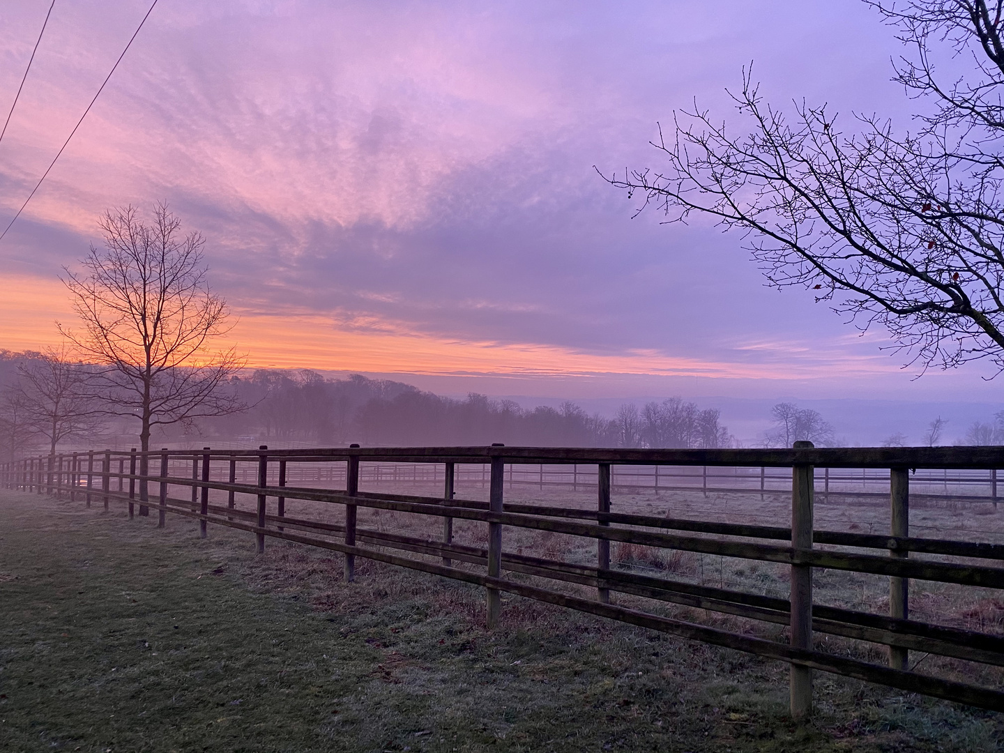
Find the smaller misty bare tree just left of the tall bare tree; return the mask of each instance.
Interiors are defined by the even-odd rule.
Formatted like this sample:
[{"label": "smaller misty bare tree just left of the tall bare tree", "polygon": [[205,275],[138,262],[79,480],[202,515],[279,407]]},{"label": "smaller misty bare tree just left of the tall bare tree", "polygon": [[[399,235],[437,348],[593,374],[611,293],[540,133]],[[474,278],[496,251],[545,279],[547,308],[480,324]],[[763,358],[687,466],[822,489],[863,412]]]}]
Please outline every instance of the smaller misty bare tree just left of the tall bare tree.
[{"label": "smaller misty bare tree just left of the tall bare tree", "polygon": [[37,435],[48,440],[49,455],[68,439],[93,439],[102,428],[101,412],[88,394],[89,369],[49,348],[17,367],[24,416]]}]

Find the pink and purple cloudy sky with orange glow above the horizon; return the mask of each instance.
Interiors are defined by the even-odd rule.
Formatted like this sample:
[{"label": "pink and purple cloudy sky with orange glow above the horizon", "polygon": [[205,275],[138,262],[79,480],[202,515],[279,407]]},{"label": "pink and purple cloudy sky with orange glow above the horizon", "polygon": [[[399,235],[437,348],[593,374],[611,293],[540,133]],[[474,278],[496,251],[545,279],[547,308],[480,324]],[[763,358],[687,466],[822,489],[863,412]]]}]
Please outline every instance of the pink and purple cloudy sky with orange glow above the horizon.
[{"label": "pink and purple cloudy sky with orange glow above the horizon", "polygon": [[[0,110],[48,0],[0,6]],[[0,142],[6,226],[149,8],[57,0]],[[997,400],[979,365],[917,379],[764,280],[743,240],[664,225],[598,173],[658,167],[659,123],[774,102],[909,128],[893,30],[853,0],[160,0],[0,242],[0,347],[55,343],[59,276],[99,215],[165,201],[206,238],[249,364],[447,394]],[[597,173],[598,171],[598,173]]]}]

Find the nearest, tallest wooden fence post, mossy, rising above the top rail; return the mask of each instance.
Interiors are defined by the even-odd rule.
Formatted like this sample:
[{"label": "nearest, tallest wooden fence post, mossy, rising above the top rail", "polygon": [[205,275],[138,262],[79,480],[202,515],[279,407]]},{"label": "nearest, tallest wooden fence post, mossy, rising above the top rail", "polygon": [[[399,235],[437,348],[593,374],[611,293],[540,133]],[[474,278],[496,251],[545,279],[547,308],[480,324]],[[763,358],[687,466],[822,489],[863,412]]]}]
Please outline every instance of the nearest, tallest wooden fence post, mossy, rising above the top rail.
[{"label": "nearest, tallest wooden fence post, mossy, rising above the top rail", "polygon": [[[796,450],[814,447],[811,442],[795,442]],[[812,548],[813,469],[797,464],[791,473],[791,547]],[[791,646],[812,648],[812,567],[791,565]],[[791,665],[791,716],[796,719],[812,711],[812,670]]]}]

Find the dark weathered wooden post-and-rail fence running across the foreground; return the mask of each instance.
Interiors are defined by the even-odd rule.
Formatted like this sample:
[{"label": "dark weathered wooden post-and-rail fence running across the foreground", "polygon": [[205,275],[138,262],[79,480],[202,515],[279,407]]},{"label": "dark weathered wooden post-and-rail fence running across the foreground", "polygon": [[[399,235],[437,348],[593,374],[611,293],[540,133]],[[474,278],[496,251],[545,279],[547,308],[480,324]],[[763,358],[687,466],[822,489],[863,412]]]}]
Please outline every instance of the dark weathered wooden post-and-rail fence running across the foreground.
[{"label": "dark weathered wooden post-and-rail fence running across the foreground", "polygon": [[[360,491],[360,461],[441,464],[443,496]],[[344,490],[289,485],[291,466],[307,463],[343,464]],[[594,467],[595,508],[506,503],[507,466],[511,469],[514,465],[532,464]],[[458,466],[468,465],[487,466],[487,502],[456,498]],[[611,469],[664,465],[790,468],[791,526],[672,519],[611,510]],[[143,466],[148,466],[147,474],[138,472]],[[241,466],[254,468],[255,483],[237,481]],[[29,458],[7,463],[0,471],[7,488],[63,495],[71,500],[81,498],[88,505],[96,498],[105,508],[112,501],[123,502],[129,505],[131,516],[136,506],[140,507],[141,515],[152,508],[159,513],[160,525],[164,525],[168,513],[194,518],[200,521],[202,536],[208,534],[208,523],[244,530],[254,534],[259,551],[264,550],[267,537],[274,537],[341,552],[346,580],[354,578],[354,559],[359,556],[474,583],[486,589],[486,621],[490,629],[501,619],[501,593],[505,591],[784,661],[791,665],[791,711],[799,717],[811,709],[814,670],[1004,711],[1001,688],[980,687],[908,669],[911,651],[1004,667],[1004,637],[912,619],[909,613],[911,579],[1004,588],[1004,566],[1001,566],[1004,544],[910,535],[911,473],[918,469],[994,471],[1002,466],[1002,448],[814,448],[808,443],[796,443],[789,450],[502,446],[269,450],[263,446],[246,451],[209,448],[146,454],[103,451]],[[816,467],[888,471],[890,535],[815,528]],[[178,472],[179,468],[185,469],[183,474]],[[191,495],[186,494],[184,499],[171,497],[170,488],[179,486],[190,488]],[[156,495],[152,494],[154,489]],[[226,505],[211,503],[211,490],[218,495],[225,493]],[[238,508],[235,504],[238,494],[252,495],[256,500],[255,509]],[[270,500],[275,501],[271,511]],[[286,515],[287,500],[339,505],[344,509],[343,522]],[[359,527],[356,511],[360,506],[434,516],[443,522],[441,539]],[[455,519],[486,524],[487,546],[455,542]],[[505,527],[593,539],[596,541],[596,564],[584,565],[507,551],[503,548]],[[790,567],[790,597],[782,599],[612,569],[611,541],[782,563]],[[470,565],[475,568],[471,569]],[[888,576],[889,614],[814,604],[812,576],[816,568]],[[588,586],[595,589],[595,597],[572,595],[553,587],[504,577],[503,571],[546,578],[555,583]],[[790,628],[789,642],[783,644],[629,608],[613,603],[611,593],[786,624]],[[814,648],[815,633],[886,646],[888,666],[820,651]]]}]

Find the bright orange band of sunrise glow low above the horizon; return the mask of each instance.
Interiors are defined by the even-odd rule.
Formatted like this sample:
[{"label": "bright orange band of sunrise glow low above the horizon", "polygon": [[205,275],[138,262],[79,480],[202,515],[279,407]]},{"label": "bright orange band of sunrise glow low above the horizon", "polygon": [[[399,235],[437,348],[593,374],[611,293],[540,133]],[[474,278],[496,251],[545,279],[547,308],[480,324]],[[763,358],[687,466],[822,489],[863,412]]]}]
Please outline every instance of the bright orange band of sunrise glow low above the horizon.
[{"label": "bright orange band of sunrise glow low above the horizon", "polygon": [[[76,317],[58,280],[7,276],[0,298],[0,348],[38,350],[57,345],[58,320],[72,327]],[[338,329],[329,317],[314,313],[265,313],[235,306],[238,321],[220,343],[236,345],[249,367],[416,374],[493,374],[568,376],[656,374],[726,379],[818,379],[834,375],[830,359],[783,363],[714,362],[659,352],[597,354],[537,343],[463,341],[409,331]],[[755,349],[755,348],[751,348]],[[895,368],[869,357],[841,357],[844,376],[874,374]]]}]

